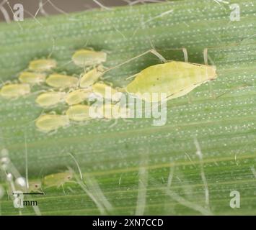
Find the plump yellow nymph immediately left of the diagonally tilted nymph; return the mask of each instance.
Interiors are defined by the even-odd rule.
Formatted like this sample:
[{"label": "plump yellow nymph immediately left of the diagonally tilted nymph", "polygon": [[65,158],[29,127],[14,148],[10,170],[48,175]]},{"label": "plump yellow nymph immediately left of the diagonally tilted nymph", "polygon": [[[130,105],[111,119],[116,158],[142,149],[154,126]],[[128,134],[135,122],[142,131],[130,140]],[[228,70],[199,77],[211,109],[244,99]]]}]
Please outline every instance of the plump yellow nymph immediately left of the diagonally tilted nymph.
[{"label": "plump yellow nymph immediately left of the diagonally tilted nymph", "polygon": [[46,83],[54,88],[71,88],[77,86],[78,80],[78,78],[73,76],[55,73],[49,75]]}]

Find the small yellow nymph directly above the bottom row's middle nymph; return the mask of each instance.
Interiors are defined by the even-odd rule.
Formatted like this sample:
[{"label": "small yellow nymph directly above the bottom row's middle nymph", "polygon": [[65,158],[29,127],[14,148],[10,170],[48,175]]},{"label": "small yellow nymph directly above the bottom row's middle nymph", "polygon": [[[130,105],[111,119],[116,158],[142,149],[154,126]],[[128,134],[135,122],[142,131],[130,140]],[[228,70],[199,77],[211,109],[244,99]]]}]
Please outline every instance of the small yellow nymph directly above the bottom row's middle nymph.
[{"label": "small yellow nymph directly above the bottom row's middle nymph", "polygon": [[65,101],[69,106],[73,106],[77,103],[81,103],[87,99],[91,95],[92,90],[90,88],[79,88],[75,91],[71,91],[66,95]]}]

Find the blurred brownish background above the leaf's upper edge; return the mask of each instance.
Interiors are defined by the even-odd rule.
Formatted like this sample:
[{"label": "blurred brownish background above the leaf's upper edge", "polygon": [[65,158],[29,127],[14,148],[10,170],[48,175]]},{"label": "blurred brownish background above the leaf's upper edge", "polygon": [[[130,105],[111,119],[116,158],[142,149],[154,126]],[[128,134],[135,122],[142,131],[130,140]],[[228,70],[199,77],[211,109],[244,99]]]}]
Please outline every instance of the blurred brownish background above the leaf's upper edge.
[{"label": "blurred brownish background above the leaf's upper edge", "polygon": [[[37,17],[43,14],[63,14],[65,12],[80,12],[103,6],[124,6],[128,4],[146,4],[164,0],[0,0],[0,21],[4,21],[4,14],[7,12],[9,18],[13,19],[12,11],[14,4],[22,4],[25,12],[24,16],[32,17],[38,11]],[[101,6],[102,4],[102,6]]]}]

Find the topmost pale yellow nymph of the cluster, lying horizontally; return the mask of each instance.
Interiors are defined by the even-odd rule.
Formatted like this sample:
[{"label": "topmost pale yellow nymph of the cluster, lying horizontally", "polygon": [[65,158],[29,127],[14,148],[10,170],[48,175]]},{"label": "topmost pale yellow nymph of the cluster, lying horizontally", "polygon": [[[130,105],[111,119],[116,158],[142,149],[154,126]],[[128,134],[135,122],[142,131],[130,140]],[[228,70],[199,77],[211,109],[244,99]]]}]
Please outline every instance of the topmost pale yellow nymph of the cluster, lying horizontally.
[{"label": "topmost pale yellow nymph of the cluster, lying horizontally", "polygon": [[94,50],[77,50],[72,56],[75,65],[84,67],[87,65],[99,65],[107,60],[107,53]]}]

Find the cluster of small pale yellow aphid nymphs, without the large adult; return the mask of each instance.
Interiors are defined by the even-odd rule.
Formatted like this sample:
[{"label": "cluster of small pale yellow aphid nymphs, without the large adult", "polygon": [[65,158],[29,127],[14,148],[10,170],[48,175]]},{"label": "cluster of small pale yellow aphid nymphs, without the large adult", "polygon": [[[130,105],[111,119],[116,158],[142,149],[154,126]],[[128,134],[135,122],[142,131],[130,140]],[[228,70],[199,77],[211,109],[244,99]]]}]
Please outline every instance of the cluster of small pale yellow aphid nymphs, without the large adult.
[{"label": "cluster of small pale yellow aphid nymphs, without the large adult", "polygon": [[[70,125],[70,122],[83,122],[92,119],[89,116],[90,101],[97,98],[97,95],[105,96],[106,88],[111,88],[112,95],[118,93],[110,83],[101,81],[106,68],[103,67],[107,59],[107,53],[94,50],[77,50],[71,57],[72,62],[83,69],[79,77],[54,73],[57,67],[56,60],[37,59],[30,61],[27,70],[19,74],[19,83],[6,83],[0,91],[0,96],[7,99],[15,99],[31,93],[31,87],[38,84],[46,84],[47,91],[40,91],[35,103],[43,109],[53,109],[59,103],[66,103],[68,109],[61,114],[50,111],[47,114],[40,114],[35,125],[41,132],[52,132],[60,127]],[[109,99],[109,100],[108,100]],[[115,106],[118,99],[115,97],[105,98],[110,103],[104,103],[102,110]],[[112,103],[115,101],[115,103]],[[98,114],[97,118],[113,119],[112,115]],[[115,118],[120,118],[115,117]]]}]

